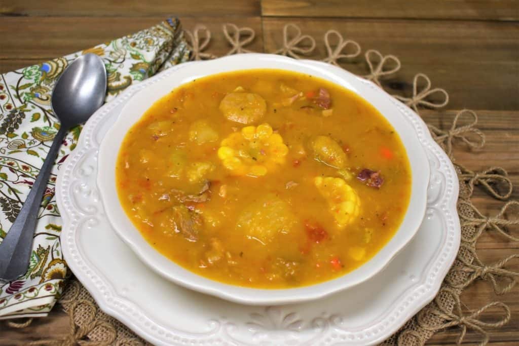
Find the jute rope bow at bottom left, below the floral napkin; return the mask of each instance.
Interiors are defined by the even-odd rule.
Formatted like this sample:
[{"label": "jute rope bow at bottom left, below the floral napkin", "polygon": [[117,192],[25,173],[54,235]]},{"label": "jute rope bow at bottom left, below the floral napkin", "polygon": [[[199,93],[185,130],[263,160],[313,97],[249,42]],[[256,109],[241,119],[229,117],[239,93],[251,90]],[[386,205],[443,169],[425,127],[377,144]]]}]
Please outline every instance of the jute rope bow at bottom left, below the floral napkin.
[{"label": "jute rope bow at bottom left, below the floral napkin", "polygon": [[[74,322],[74,312],[79,306],[88,307],[90,313],[86,317],[86,320],[80,325],[77,326]],[[108,322],[97,319],[97,306],[94,305],[91,301],[86,299],[79,299],[72,302],[72,305],[69,308],[69,318],[70,318],[70,331],[69,335],[62,340],[56,339],[47,339],[47,340],[39,340],[32,341],[28,343],[28,345],[36,346],[36,345],[50,345],[50,346],[75,346],[77,344],[81,345],[110,345],[112,344],[116,337],[117,332],[113,325]],[[106,329],[106,337],[107,339],[99,342],[99,341],[85,341],[82,340],[90,333],[94,328],[102,327]]]}]

